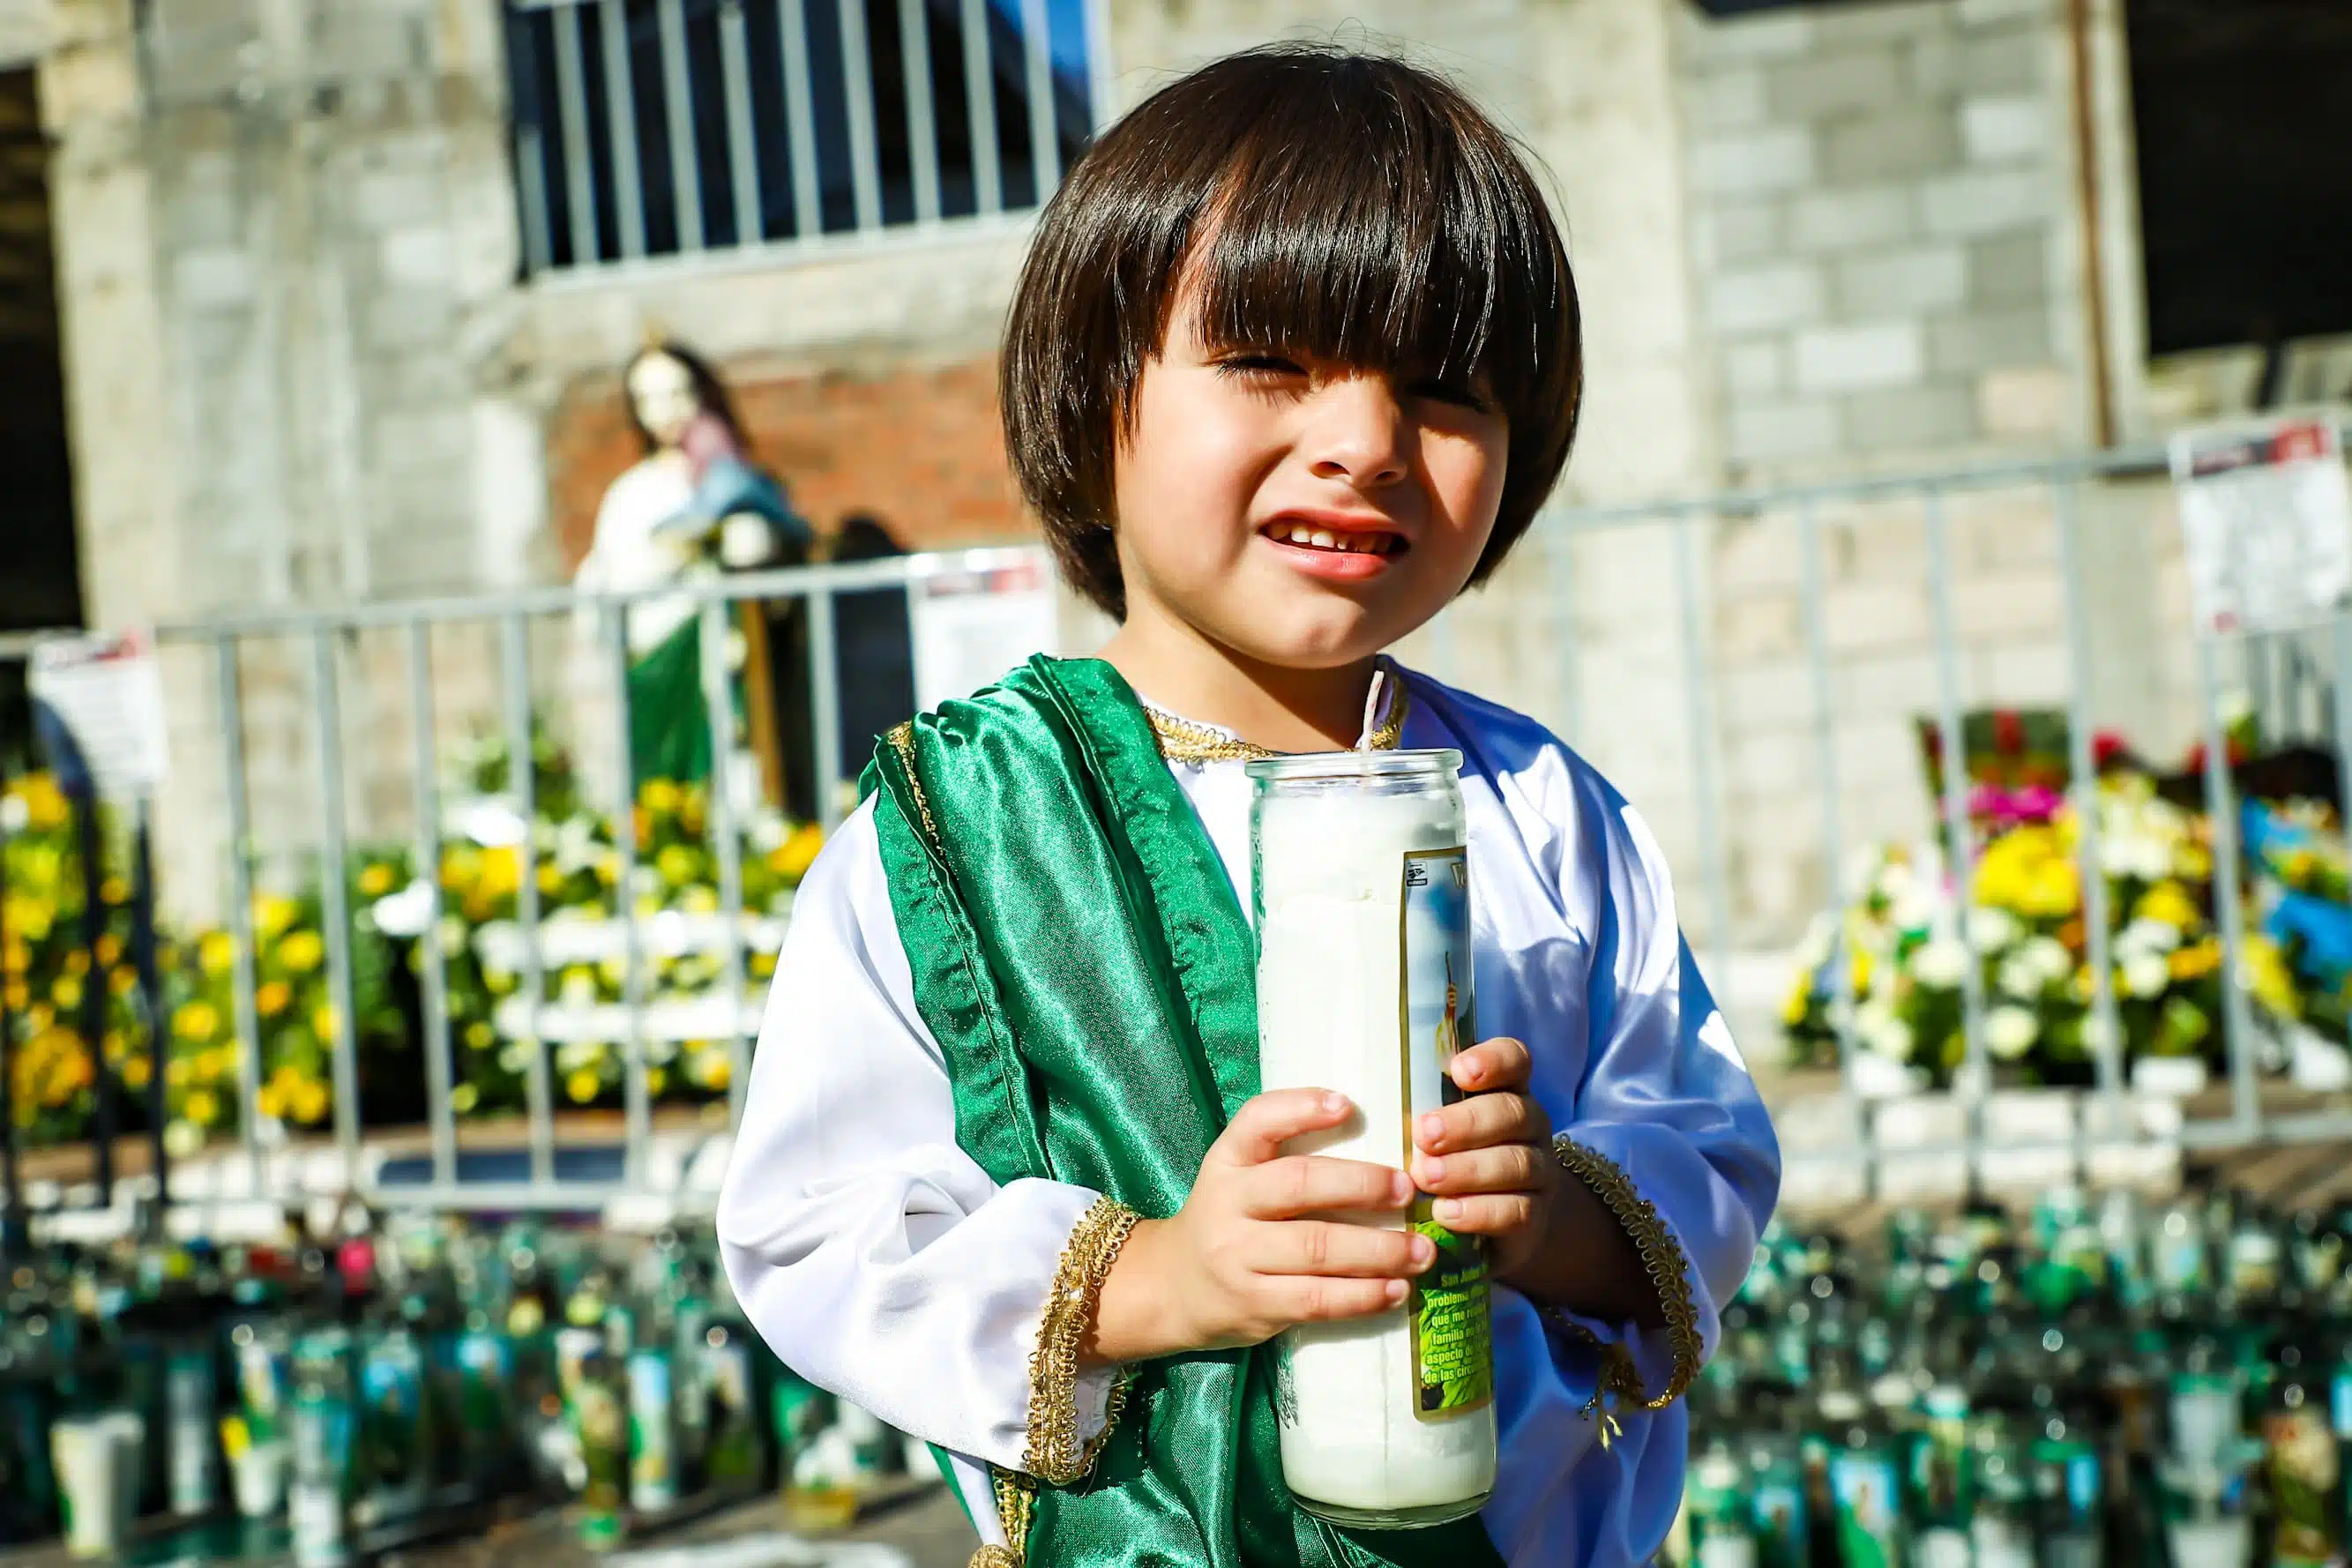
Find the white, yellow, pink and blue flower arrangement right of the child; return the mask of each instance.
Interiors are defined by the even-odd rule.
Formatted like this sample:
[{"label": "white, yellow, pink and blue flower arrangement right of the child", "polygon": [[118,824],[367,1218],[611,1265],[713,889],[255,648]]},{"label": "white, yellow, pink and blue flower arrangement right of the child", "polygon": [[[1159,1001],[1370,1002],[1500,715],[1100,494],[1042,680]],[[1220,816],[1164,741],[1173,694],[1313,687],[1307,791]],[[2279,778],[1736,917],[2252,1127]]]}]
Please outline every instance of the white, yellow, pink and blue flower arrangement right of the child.
[{"label": "white, yellow, pink and blue flower arrangement right of the child", "polygon": [[[2232,766],[2241,766],[2258,748],[2251,717],[2232,715],[2225,733]],[[1919,741],[1929,783],[1940,790],[1936,724],[1922,722]],[[1969,715],[1962,750],[1980,844],[1966,905],[1938,849],[1870,856],[1844,919],[1818,919],[1799,945],[1783,1009],[1792,1058],[1835,1063],[1846,1023],[1863,1048],[1856,1074],[1865,1088],[1947,1086],[1966,1060],[1964,994],[1973,971],[1985,1053],[1999,1079],[2089,1084],[2110,1041],[2093,1006],[2065,719]],[[2093,757],[2119,1032],[2112,1044],[2124,1063],[2218,1065],[2227,976],[2213,924],[2211,820],[2178,804],[2180,778],[2154,778],[2119,738],[2100,736]],[[2343,1037],[2352,1020],[2352,858],[2333,820],[2331,806],[2312,802],[2244,804],[2253,919],[2237,983],[2270,1037],[2310,1039],[2310,1027]],[[1839,961],[1846,1018],[1837,1013]]]}]

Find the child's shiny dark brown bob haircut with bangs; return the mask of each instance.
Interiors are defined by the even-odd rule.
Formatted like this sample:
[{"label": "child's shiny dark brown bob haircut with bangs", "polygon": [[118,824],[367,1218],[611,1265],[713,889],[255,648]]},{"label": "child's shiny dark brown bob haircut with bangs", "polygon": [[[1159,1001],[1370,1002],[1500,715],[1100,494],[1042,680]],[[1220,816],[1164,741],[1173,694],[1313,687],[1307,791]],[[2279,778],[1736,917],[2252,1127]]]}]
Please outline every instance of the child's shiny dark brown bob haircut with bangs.
[{"label": "child's shiny dark brown bob haircut with bangs", "polygon": [[1470,583],[1503,564],[1569,461],[1583,331],[1543,190],[1458,87],[1381,54],[1249,49],[1136,106],[1047,202],[997,369],[1004,447],[1063,576],[1120,618],[1112,456],[1188,268],[1216,346],[1479,376],[1510,458]]}]

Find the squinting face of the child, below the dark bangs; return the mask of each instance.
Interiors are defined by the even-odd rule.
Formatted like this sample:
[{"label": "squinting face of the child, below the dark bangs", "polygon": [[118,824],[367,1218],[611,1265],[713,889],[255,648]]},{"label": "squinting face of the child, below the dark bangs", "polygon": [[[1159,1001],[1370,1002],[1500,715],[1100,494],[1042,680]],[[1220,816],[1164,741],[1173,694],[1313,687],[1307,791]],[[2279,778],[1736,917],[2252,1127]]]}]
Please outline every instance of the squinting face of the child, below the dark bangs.
[{"label": "squinting face of the child, below the dark bangs", "polygon": [[1117,454],[1127,618],[1277,668],[1364,661],[1470,581],[1508,435],[1470,383],[1204,346],[1188,287]]}]

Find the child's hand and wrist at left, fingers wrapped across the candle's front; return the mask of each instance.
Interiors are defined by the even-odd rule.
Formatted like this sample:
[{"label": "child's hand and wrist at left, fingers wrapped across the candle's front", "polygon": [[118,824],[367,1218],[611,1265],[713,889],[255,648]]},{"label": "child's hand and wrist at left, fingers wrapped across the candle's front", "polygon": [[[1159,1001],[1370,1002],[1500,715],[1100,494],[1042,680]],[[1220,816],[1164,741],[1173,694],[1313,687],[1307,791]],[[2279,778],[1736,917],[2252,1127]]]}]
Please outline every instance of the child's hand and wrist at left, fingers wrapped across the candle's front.
[{"label": "child's hand and wrist at left, fingers wrapped across the candle's front", "polygon": [[1096,1300],[1091,1363],[1258,1345],[1291,1324],[1369,1316],[1404,1300],[1435,1262],[1428,1237],[1308,1215],[1395,1213],[1411,1201],[1402,1171],[1357,1159],[1282,1154],[1282,1145],[1348,1119],[1343,1095],[1263,1093],[1200,1161],[1174,1220],[1143,1220]]}]

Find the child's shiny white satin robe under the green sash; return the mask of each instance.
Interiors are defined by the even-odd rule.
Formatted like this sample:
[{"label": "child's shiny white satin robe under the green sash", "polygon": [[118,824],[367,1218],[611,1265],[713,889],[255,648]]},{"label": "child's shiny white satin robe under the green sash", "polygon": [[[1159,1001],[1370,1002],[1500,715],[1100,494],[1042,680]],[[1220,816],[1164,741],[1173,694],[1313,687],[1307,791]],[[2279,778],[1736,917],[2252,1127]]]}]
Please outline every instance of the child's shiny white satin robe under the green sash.
[{"label": "child's shiny white satin robe under the green sash", "polygon": [[[1477,1023],[1526,1041],[1555,1126],[1613,1159],[1689,1260],[1700,1338],[1771,1215],[1780,1154],[1755,1084],[1675,922],[1665,858],[1616,790],[1541,724],[1409,677],[1402,745],[1463,752]],[[1249,778],[1171,764],[1242,907]],[[727,1274],[767,1342],[811,1382],[957,1458],[983,1535],[983,1465],[1018,1469],[1030,1347],[1070,1229],[1096,1194],[997,1187],[955,1145],[938,1041],[915,1011],[873,802],[809,867],[793,905],[720,1194]],[[1663,1389],[1663,1331],[1590,1321]],[[1682,1500],[1686,1415],[1585,1413],[1595,1356],[1494,1293],[1501,1460],[1482,1521],[1512,1568],[1635,1568]],[[1082,1380],[1082,1436],[1110,1373]]]}]

